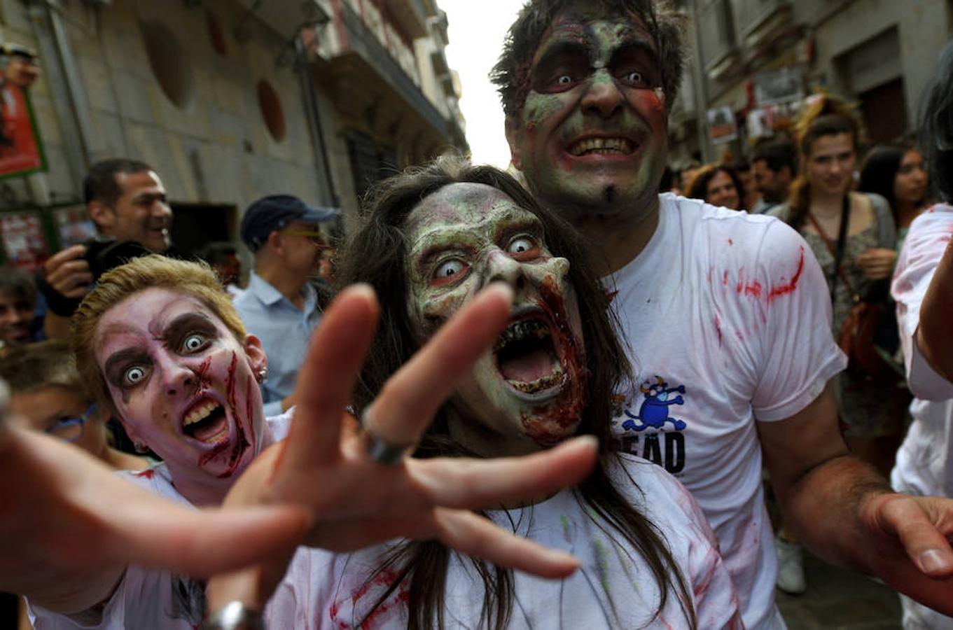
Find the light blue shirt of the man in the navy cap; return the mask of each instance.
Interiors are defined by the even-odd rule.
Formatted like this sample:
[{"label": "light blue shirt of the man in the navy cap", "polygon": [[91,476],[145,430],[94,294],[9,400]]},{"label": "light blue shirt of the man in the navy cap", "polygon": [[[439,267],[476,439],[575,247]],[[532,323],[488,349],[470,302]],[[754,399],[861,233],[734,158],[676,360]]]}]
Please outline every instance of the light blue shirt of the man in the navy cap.
[{"label": "light blue shirt of the man in the navy cap", "polygon": [[234,299],[235,310],[249,334],[261,340],[268,356],[268,378],[261,384],[265,416],[281,413],[281,400],[291,396],[298,369],[308,354],[311,334],[321,321],[317,291],[304,285],[304,310],[252,272],[248,289]]}]

